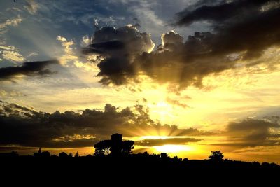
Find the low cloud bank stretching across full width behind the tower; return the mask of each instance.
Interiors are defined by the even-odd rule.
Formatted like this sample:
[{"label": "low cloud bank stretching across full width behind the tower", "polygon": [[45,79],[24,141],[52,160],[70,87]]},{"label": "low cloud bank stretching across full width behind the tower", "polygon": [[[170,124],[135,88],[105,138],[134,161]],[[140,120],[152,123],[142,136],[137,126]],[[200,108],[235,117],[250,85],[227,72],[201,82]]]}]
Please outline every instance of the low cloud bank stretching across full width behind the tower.
[{"label": "low cloud bank stretching across full width behind the tower", "polygon": [[[133,109],[133,110],[132,110]],[[224,136],[228,141],[215,146],[237,148],[276,146],[280,144],[279,117],[256,120],[247,118],[239,123],[229,123],[224,132],[202,132],[194,128],[178,128],[151,120],[144,106],[136,105],[117,111],[106,104],[104,111],[85,109],[81,113],[65,111],[45,113],[18,104],[0,103],[0,147],[85,147],[116,132],[124,137],[165,134],[169,139],[144,139],[139,146],[189,144],[202,141],[207,136]],[[201,137],[201,138],[200,138]]]}]

